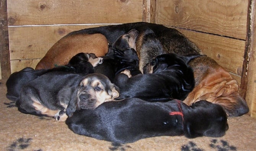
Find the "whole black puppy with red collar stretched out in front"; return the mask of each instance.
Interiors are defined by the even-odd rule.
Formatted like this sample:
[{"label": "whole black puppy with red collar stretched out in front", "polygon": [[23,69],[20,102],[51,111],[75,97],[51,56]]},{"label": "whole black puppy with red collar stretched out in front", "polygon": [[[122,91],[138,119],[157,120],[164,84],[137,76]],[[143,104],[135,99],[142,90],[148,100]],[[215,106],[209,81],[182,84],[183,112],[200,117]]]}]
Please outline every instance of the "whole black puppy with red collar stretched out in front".
[{"label": "whole black puppy with red collar stretched out in front", "polygon": [[76,134],[116,143],[156,136],[222,137],[228,129],[220,105],[199,101],[187,106],[179,100],[151,103],[138,98],[76,111],[66,124]]}]

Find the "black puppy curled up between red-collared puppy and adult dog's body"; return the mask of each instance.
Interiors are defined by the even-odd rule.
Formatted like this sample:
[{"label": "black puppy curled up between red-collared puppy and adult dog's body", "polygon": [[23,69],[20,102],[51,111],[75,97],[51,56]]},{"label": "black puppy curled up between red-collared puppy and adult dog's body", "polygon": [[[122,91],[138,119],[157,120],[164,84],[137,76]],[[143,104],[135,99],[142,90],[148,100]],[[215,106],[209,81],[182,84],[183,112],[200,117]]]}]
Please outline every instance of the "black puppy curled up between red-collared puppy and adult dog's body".
[{"label": "black puppy curled up between red-collared puppy and adult dog's body", "polygon": [[114,83],[120,89],[120,99],[137,97],[149,102],[165,102],[169,98],[184,100],[194,88],[193,70],[188,66],[198,55],[162,54],[151,63],[154,71],[128,78],[120,73]]}]

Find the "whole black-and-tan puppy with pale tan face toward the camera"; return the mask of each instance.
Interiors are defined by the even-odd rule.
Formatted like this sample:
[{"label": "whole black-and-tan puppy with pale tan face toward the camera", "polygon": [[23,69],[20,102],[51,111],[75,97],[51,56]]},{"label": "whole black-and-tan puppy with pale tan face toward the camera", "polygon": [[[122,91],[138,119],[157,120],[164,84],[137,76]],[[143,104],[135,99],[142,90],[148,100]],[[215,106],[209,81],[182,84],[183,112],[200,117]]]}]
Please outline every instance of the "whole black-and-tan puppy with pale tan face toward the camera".
[{"label": "whole black-and-tan puppy with pale tan face toward the camera", "polygon": [[75,110],[94,109],[118,96],[118,88],[102,74],[54,71],[24,85],[16,106],[25,114],[55,116],[57,121],[65,121]]}]

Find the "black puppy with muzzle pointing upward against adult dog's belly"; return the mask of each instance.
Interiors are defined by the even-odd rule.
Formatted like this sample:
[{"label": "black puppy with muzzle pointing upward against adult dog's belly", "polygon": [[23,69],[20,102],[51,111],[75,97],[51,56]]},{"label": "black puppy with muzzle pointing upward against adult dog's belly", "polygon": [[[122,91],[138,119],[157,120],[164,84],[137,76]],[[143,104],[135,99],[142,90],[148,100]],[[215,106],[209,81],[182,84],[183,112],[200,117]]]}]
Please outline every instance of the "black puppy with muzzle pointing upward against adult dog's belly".
[{"label": "black puppy with muzzle pointing upward against adult dog's belly", "polygon": [[117,38],[109,47],[108,53],[103,56],[103,63],[94,68],[96,73],[102,73],[113,81],[117,73],[129,69],[133,75],[141,73],[138,70],[139,58],[136,54],[135,40],[138,31],[130,30]]}]

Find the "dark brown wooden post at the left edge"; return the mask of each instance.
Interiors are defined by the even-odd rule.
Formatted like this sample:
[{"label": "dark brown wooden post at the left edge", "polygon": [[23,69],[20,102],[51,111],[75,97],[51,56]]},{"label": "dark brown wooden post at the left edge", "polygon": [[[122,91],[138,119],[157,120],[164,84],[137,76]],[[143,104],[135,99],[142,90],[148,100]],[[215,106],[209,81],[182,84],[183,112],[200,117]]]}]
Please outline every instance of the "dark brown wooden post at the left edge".
[{"label": "dark brown wooden post at the left edge", "polygon": [[8,40],[6,0],[0,0],[0,69],[1,79],[7,79],[11,74],[10,52]]}]

